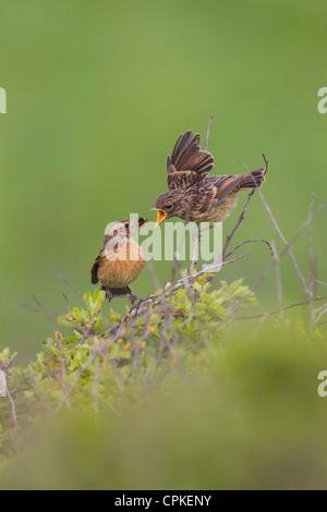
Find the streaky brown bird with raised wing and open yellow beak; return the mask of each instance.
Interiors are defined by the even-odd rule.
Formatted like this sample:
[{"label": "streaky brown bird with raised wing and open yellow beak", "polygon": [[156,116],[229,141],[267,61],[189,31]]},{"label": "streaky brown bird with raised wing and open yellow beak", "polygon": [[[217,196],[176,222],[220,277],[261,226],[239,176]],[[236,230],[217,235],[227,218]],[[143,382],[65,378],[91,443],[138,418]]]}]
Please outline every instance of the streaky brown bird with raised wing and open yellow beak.
[{"label": "streaky brown bird with raised wing and open yellow beak", "polygon": [[214,157],[203,151],[199,135],[192,131],[182,134],[168,157],[169,192],[158,196],[157,224],[171,217],[196,222],[221,222],[234,208],[238,196],[246,190],[261,188],[266,169],[242,175],[209,176]]}]

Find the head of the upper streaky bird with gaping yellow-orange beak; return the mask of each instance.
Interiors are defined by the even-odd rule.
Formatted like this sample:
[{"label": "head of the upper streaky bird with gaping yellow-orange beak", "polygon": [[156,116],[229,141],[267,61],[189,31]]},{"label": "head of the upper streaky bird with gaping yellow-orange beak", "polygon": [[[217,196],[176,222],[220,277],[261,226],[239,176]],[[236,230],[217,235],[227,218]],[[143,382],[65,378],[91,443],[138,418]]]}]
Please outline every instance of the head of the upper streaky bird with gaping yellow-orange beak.
[{"label": "head of the upper streaky bird with gaping yellow-orange beak", "polygon": [[156,205],[150,208],[157,210],[157,225],[171,217],[187,219],[187,211],[191,214],[191,203],[187,194],[183,191],[169,191],[157,197]]}]

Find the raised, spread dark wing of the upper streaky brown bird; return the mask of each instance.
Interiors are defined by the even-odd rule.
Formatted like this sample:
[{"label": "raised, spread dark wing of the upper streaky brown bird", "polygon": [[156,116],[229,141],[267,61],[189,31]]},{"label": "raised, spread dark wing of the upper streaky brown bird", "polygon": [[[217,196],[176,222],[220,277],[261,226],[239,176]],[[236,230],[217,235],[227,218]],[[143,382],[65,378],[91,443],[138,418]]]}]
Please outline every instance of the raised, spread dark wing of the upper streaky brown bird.
[{"label": "raised, spread dark wing of the upper streaky brown bird", "polygon": [[167,160],[168,187],[187,188],[199,183],[213,169],[214,157],[199,147],[198,133],[193,137],[191,131],[181,135]]}]

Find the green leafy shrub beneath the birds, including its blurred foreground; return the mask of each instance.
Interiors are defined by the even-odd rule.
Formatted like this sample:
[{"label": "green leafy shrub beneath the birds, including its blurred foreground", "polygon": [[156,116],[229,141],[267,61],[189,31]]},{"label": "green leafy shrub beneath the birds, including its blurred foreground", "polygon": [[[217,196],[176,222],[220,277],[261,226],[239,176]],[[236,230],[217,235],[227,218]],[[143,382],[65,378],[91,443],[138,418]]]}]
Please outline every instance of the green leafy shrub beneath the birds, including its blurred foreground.
[{"label": "green leafy shrub beneath the birds, including its blurred foreground", "polygon": [[324,487],[322,328],[245,332],[242,280],[160,296],[105,318],[86,292],[27,367],[0,354],[2,488]]}]

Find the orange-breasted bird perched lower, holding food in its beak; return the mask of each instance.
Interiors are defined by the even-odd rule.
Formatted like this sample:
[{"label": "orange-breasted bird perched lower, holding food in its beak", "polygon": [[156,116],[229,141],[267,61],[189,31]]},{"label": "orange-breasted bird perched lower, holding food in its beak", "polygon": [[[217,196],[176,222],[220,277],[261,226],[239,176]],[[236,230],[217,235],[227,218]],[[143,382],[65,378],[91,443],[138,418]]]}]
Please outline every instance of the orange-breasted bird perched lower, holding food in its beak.
[{"label": "orange-breasted bird perched lower, holding food in its beak", "polygon": [[138,298],[133,295],[129,284],[140,276],[146,259],[131,236],[147,220],[143,218],[135,221],[120,220],[106,229],[104,247],[93,264],[90,276],[93,284],[101,282],[108,301],[130,295],[133,304]]}]

